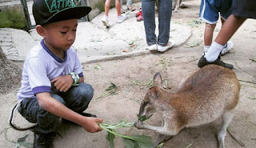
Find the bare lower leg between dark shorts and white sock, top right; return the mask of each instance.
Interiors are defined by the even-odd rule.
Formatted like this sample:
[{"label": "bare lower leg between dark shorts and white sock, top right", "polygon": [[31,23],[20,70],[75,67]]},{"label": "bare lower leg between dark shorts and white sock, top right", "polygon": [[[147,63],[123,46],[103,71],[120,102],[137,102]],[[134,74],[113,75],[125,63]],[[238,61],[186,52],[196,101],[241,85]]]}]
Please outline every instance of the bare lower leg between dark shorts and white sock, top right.
[{"label": "bare lower leg between dark shorts and white sock, top right", "polygon": [[246,18],[238,18],[231,14],[230,17],[226,19],[226,22],[223,23],[222,29],[218,33],[215,42],[218,42],[218,44],[225,46],[226,42],[230,40],[230,38],[245,21]]}]

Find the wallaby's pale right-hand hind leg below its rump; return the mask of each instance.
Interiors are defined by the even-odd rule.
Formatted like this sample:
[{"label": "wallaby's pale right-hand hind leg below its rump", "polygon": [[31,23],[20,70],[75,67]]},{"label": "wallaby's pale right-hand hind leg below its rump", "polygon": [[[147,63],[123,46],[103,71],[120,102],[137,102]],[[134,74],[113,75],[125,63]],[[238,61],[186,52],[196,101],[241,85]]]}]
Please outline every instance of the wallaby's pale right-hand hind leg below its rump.
[{"label": "wallaby's pale right-hand hind leg below its rump", "polygon": [[218,148],[224,148],[224,141],[226,136],[226,128],[229,126],[232,118],[233,111],[227,111],[222,115],[222,126],[220,130],[218,130]]}]

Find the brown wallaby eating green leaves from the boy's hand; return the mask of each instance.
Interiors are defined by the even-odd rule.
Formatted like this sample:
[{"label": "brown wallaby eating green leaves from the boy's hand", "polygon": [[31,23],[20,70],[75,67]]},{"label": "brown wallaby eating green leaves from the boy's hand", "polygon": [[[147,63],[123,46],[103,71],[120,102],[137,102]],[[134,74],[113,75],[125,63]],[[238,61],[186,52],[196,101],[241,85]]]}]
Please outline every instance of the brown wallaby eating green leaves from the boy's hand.
[{"label": "brown wallaby eating green leaves from the boy's hand", "polygon": [[218,130],[218,147],[224,148],[226,128],[233,118],[239,100],[240,84],[234,71],[208,65],[194,72],[178,86],[176,93],[162,88],[160,73],[154,75],[154,86],[146,93],[138,117],[149,118],[162,110],[162,126],[150,126],[138,120],[138,129],[154,130],[158,136],[154,147],[178,134],[184,127],[200,126],[222,117]]}]

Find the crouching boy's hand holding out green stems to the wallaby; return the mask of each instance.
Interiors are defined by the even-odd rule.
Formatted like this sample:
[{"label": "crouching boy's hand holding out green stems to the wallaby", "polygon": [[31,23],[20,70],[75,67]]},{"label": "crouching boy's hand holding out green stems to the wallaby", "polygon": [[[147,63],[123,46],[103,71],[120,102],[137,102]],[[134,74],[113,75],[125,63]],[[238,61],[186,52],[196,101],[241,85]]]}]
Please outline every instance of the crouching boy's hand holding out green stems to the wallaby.
[{"label": "crouching boy's hand holding out green stems to the wallaby", "polygon": [[102,123],[103,119],[102,118],[90,118],[90,117],[85,117],[84,122],[82,123],[82,127],[90,132],[90,133],[96,133],[98,131],[101,131],[102,128],[98,125],[98,123]]}]

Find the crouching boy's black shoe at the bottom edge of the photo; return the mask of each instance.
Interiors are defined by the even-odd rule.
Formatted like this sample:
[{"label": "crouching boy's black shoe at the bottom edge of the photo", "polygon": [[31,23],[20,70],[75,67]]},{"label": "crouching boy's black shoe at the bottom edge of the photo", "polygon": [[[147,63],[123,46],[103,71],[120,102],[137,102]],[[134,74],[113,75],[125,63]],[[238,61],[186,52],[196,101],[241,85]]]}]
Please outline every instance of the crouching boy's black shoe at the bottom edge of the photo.
[{"label": "crouching boy's black shoe at the bottom edge of the photo", "polygon": [[56,134],[34,134],[34,148],[53,148],[53,138]]}]

